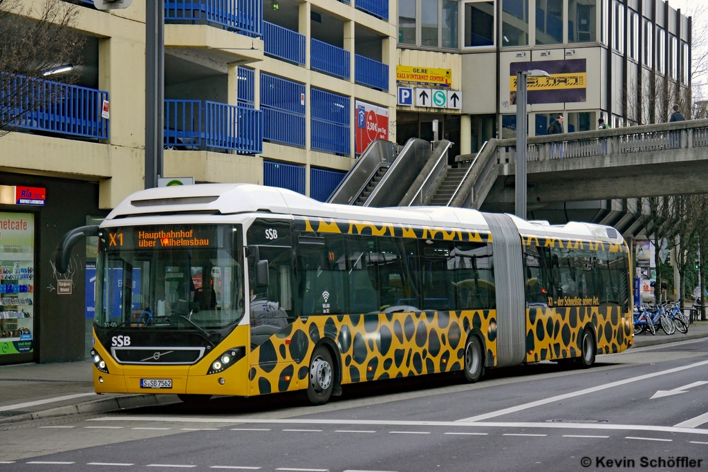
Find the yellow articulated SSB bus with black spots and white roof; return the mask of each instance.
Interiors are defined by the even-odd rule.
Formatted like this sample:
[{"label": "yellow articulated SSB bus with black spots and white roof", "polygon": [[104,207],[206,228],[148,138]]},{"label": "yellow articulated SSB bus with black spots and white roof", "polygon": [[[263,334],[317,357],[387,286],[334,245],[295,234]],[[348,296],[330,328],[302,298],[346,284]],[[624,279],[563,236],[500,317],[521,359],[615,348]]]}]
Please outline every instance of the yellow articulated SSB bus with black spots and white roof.
[{"label": "yellow articulated SSB bus with black spots and white roof", "polygon": [[608,226],[233,184],[137,192],[59,257],[91,234],[99,393],[320,404],[356,382],[589,367],[632,345],[629,251]]}]

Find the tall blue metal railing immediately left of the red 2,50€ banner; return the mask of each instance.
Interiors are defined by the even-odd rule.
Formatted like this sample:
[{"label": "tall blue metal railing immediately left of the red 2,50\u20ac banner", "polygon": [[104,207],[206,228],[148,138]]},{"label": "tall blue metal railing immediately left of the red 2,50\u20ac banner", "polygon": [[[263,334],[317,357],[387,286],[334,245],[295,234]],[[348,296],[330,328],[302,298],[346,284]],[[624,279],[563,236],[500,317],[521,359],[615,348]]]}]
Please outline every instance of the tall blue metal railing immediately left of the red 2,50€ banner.
[{"label": "tall blue metal railing immediately left of the red 2,50\u20ac banner", "polygon": [[312,149],[350,154],[350,98],[312,88],[310,107]]}]

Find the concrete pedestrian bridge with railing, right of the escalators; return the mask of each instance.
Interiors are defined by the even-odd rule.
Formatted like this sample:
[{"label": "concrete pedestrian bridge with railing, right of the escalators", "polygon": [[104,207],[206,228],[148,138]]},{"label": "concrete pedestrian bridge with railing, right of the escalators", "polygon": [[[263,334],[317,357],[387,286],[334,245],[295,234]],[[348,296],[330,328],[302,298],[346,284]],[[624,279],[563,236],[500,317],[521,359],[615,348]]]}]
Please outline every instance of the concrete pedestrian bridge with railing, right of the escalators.
[{"label": "concrete pedestrian bridge with railing, right of the escalators", "polygon": [[[467,168],[450,206],[513,212],[515,139],[491,139]],[[708,120],[532,137],[528,207],[708,192]]]}]

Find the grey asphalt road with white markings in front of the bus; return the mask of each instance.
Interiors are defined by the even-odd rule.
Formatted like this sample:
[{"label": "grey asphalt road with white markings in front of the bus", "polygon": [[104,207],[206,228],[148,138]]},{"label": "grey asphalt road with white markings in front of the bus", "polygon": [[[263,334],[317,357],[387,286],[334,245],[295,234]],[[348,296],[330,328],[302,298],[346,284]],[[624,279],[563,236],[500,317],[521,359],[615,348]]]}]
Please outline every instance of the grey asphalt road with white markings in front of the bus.
[{"label": "grey asphalt road with white markings in front of the bus", "polygon": [[296,394],[215,398],[4,425],[0,437],[3,471],[708,469],[708,340],[584,371],[346,386],[319,407]]}]

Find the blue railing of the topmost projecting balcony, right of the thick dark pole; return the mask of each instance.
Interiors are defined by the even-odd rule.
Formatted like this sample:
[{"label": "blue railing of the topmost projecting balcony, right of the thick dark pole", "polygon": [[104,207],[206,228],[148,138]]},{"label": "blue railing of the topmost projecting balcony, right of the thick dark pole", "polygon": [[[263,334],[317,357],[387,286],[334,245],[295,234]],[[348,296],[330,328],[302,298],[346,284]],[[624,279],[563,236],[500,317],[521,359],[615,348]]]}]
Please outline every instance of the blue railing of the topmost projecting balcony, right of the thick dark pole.
[{"label": "blue railing of the topmost projecting balcony, right of the thick dark pole", "polygon": [[245,35],[261,36],[263,2],[259,0],[167,0],[165,21],[207,21]]}]

